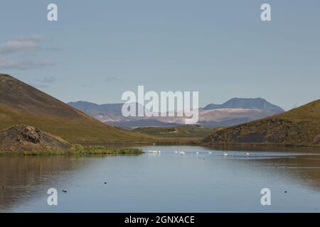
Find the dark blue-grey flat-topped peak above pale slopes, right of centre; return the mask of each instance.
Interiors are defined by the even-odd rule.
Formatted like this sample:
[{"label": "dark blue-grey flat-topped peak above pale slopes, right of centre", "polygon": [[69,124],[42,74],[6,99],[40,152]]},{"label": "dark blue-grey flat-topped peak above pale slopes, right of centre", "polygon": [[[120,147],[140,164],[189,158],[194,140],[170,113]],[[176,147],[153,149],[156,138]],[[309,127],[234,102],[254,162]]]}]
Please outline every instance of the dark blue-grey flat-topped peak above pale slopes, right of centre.
[{"label": "dark blue-grey flat-topped peak above pale slopes, right of centre", "polygon": [[280,114],[284,110],[271,104],[269,101],[262,98],[233,98],[226,101],[223,104],[209,104],[204,109],[233,109],[233,108],[242,108],[242,109],[262,109],[267,111],[274,111],[274,113]]}]

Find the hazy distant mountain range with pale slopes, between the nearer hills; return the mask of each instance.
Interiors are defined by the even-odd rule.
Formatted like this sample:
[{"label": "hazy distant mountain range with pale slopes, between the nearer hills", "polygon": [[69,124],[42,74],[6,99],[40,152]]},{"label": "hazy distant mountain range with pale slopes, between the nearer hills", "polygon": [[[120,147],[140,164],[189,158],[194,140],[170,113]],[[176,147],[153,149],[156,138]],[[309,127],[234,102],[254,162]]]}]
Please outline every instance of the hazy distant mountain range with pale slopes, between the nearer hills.
[{"label": "hazy distant mountain range with pale slopes, between the nearer hills", "polygon": [[[68,103],[99,121],[122,128],[178,126],[183,124],[183,117],[124,117],[123,104],[93,104],[87,101]],[[209,104],[199,111],[198,124],[206,127],[234,126],[254,121],[266,116],[284,112],[279,106],[270,104],[265,99],[234,98],[224,104]]]}]

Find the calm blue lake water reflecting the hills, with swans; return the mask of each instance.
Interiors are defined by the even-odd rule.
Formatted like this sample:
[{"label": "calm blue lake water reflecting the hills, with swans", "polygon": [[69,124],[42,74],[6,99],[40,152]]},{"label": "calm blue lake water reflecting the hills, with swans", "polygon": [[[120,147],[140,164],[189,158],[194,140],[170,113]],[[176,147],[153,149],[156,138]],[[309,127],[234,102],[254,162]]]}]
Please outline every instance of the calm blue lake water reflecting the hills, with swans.
[{"label": "calm blue lake water reflecting the hills, with swans", "polygon": [[[320,153],[142,149],[161,154],[0,157],[0,211],[320,211]],[[49,188],[58,189],[58,206],[48,206]],[[271,206],[261,205],[262,188]]]}]

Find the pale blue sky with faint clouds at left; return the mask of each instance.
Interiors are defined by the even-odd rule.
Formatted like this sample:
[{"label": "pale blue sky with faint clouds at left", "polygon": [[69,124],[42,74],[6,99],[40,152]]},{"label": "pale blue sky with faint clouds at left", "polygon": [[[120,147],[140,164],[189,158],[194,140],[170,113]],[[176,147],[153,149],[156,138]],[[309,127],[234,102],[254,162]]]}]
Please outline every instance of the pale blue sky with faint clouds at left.
[{"label": "pale blue sky with faint clouds at left", "polygon": [[[48,21],[48,4],[58,21]],[[261,21],[260,6],[272,21]],[[199,92],[200,106],[262,97],[288,110],[320,97],[320,1],[1,0],[0,72],[56,98]]]}]

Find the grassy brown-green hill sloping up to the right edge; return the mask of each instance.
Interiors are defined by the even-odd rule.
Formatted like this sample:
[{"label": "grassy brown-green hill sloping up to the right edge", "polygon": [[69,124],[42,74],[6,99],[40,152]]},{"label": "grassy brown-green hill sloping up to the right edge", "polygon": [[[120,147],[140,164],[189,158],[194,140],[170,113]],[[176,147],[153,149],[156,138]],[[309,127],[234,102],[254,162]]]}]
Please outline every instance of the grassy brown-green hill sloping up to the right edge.
[{"label": "grassy brown-green hill sloping up to the right edge", "polygon": [[216,131],[203,140],[206,145],[218,143],[320,147],[320,99],[284,114]]}]

